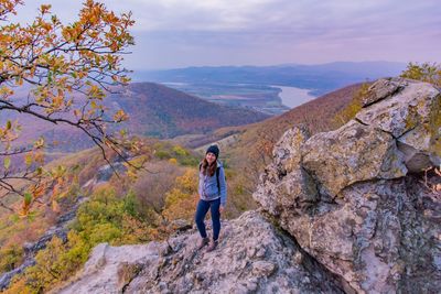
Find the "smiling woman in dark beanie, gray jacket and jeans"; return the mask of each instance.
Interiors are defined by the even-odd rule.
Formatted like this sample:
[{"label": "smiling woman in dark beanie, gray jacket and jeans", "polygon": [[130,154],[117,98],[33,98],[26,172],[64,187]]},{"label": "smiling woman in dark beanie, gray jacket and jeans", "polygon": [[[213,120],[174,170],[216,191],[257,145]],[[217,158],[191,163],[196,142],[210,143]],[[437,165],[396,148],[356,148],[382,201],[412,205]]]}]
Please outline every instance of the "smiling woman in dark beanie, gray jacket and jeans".
[{"label": "smiling woman in dark beanie, gray jacket and jeans", "polygon": [[[213,251],[217,247],[220,232],[220,213],[224,211],[227,200],[225,172],[220,162],[217,161],[218,156],[219,149],[217,145],[211,145],[205,153],[205,159],[200,164],[200,202],[197,203],[195,220],[202,238],[198,249],[209,243],[207,251]],[[208,209],[213,221],[212,240],[207,237],[204,222]]]}]

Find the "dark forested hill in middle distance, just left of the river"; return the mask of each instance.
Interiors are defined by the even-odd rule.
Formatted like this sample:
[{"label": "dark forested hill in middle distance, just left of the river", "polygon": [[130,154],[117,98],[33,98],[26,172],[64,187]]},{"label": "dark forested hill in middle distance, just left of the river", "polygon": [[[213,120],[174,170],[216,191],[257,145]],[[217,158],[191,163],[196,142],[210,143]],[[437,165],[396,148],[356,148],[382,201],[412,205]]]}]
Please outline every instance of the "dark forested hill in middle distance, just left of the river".
[{"label": "dark forested hill in middle distance, just left of the river", "polygon": [[133,83],[121,94],[108,98],[114,107],[129,113],[129,130],[162,139],[207,133],[222,127],[252,123],[269,117],[255,110],[208,102],[154,83]]}]

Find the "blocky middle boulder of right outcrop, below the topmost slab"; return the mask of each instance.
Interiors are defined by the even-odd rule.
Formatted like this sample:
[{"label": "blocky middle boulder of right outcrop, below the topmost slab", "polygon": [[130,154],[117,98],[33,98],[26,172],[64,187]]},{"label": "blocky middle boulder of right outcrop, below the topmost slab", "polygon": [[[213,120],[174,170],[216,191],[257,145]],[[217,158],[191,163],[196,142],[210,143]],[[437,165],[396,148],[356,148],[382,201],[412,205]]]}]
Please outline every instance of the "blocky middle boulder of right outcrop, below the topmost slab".
[{"label": "blocky middle boulder of right outcrop, below the topmost slab", "polygon": [[332,196],[356,182],[407,173],[394,138],[354,120],[336,131],[312,137],[301,151],[302,166],[318,178],[323,193]]}]

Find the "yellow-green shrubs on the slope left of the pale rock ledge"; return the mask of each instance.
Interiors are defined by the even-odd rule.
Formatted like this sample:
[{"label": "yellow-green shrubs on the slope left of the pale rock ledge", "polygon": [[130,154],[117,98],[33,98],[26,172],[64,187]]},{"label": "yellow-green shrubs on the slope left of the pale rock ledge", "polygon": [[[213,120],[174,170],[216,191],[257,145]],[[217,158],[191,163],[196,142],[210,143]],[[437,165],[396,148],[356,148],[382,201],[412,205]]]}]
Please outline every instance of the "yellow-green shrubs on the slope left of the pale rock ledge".
[{"label": "yellow-green shrubs on the slope left of the pale rock ledge", "polygon": [[[154,231],[138,219],[138,216],[133,193],[118,198],[111,187],[97,189],[79,207],[67,242],[63,243],[54,237],[36,254],[35,265],[17,276],[6,293],[47,292],[55,284],[71,277],[86,262],[92,249],[100,242],[119,246],[150,241],[150,232]],[[6,263],[11,264],[11,259]]]}]

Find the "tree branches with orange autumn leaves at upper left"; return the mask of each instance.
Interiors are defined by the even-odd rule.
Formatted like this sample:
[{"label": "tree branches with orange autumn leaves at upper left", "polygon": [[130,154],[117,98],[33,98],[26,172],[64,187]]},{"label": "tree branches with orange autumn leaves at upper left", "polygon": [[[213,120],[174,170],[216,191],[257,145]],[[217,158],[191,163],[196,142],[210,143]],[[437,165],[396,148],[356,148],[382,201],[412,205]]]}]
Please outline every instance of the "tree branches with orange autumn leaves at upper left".
[{"label": "tree branches with orange autumn leaves at upper left", "polygon": [[[11,21],[22,4],[22,0],[0,0],[0,116],[15,112],[71,126],[87,135],[106,160],[109,151],[122,155],[122,146],[133,145],[122,132],[112,134],[108,126],[127,115],[109,113],[104,99],[106,91],[129,81],[122,57],[133,44],[128,31],[133,24],[131,13],[117,15],[87,0],[73,23],[64,24],[51,6],[41,6],[35,19],[22,25]],[[24,99],[14,95],[23,87],[29,88]],[[0,206],[9,208],[2,198],[15,193],[23,197],[25,214],[50,186],[63,184],[63,171],[42,168],[44,138],[23,143],[18,140],[21,128],[17,120],[0,126]],[[22,164],[14,164],[18,159]],[[55,184],[43,181],[47,175]]]}]

